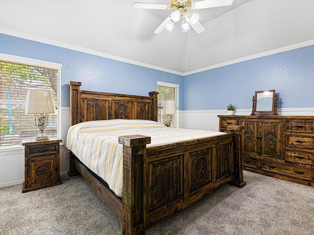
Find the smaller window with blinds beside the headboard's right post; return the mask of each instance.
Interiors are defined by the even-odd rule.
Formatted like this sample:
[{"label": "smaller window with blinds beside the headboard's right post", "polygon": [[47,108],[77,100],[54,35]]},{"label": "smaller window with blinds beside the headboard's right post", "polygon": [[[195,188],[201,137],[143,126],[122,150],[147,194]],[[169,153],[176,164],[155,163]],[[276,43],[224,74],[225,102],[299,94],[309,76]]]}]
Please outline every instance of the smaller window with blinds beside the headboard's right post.
[{"label": "smaller window with blinds beside the headboard's right post", "polygon": [[167,99],[175,100],[176,114],[172,118],[171,127],[179,127],[179,85],[157,82],[157,92],[158,94],[158,122],[164,123],[167,119],[167,115],[162,112],[163,101]]}]

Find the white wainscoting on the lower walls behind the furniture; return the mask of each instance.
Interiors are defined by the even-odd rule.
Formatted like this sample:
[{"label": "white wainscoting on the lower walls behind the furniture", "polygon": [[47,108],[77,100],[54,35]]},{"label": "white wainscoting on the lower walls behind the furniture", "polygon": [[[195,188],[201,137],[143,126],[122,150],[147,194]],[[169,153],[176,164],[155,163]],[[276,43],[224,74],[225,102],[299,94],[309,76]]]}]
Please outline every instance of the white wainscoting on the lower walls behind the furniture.
[{"label": "white wainscoting on the lower walls behind the furniture", "polygon": [[[60,174],[69,170],[69,159],[65,159],[67,132],[70,127],[70,108],[60,108]],[[252,110],[236,109],[235,115],[250,115]],[[218,131],[219,118],[217,115],[227,115],[227,110],[189,110],[180,111],[180,127],[187,129]],[[314,108],[279,109],[279,115],[314,116]],[[24,181],[24,147],[11,150],[0,150],[0,187],[22,183]],[[22,190],[22,188],[21,188]]]}]

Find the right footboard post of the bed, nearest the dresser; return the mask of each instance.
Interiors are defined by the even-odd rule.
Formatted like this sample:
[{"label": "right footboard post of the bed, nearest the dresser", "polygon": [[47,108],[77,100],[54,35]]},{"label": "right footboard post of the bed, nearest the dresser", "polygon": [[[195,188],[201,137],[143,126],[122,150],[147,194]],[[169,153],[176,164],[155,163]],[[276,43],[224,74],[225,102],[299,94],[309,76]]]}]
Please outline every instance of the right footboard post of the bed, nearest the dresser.
[{"label": "right footboard post of the bed, nearest the dresser", "polygon": [[242,166],[242,133],[244,126],[228,126],[228,130],[235,133],[234,139],[234,180],[230,182],[238,188],[243,188],[246,182],[243,181],[243,166]]}]

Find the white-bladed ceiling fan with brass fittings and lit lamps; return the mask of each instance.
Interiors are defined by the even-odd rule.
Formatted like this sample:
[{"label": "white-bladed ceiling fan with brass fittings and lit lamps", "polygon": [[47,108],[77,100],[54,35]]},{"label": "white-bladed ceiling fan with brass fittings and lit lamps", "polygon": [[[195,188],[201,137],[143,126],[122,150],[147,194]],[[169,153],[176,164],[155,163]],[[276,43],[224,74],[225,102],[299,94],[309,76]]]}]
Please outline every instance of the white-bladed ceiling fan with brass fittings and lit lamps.
[{"label": "white-bladed ceiling fan with brass fittings and lit lamps", "polygon": [[154,4],[154,3],[142,3],[134,2],[132,6],[134,8],[141,9],[160,9],[160,10],[169,10],[171,9],[172,14],[162,22],[154,33],[161,33],[165,28],[172,30],[175,22],[178,22],[181,19],[181,29],[182,32],[187,32],[191,27],[197,32],[202,33],[205,31],[204,26],[198,21],[199,15],[195,13],[188,13],[189,9],[198,10],[210,7],[218,6],[229,6],[233,3],[234,0],[202,0],[191,2],[191,0],[171,0],[170,5],[166,4]]}]

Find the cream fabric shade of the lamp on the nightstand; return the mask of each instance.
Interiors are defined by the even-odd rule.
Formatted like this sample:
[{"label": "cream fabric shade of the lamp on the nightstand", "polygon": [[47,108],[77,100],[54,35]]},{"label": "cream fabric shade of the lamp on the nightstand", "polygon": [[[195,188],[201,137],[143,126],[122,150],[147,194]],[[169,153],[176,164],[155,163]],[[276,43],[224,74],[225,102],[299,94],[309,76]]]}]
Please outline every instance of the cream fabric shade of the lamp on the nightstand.
[{"label": "cream fabric shade of the lamp on the nightstand", "polygon": [[28,90],[26,114],[53,114],[53,100],[50,91]]}]

